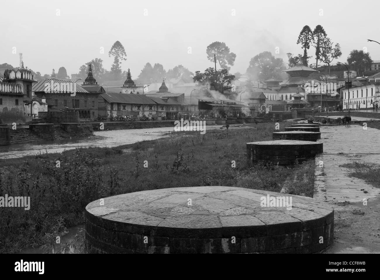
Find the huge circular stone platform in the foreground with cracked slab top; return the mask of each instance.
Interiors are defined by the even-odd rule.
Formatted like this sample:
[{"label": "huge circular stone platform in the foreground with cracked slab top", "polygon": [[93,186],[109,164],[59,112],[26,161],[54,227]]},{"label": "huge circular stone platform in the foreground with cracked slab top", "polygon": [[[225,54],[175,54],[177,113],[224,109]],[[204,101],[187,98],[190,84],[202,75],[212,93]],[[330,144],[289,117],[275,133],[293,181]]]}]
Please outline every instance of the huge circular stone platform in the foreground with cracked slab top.
[{"label": "huge circular stone platform in the foreground with cracked slab top", "polygon": [[[287,206],[279,199],[274,206],[275,197]],[[159,189],[99,204],[86,206],[88,253],[314,253],[331,245],[334,233],[327,204],[264,190]]]}]

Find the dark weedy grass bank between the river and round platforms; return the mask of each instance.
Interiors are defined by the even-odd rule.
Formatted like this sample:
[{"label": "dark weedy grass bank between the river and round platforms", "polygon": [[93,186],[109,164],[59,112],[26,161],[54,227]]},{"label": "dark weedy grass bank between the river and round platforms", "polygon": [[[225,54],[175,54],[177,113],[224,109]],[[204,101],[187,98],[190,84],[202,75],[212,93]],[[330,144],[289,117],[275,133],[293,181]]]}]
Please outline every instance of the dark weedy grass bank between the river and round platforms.
[{"label": "dark weedy grass bank between the river and round platforms", "polygon": [[[280,124],[280,130],[291,123]],[[30,196],[30,210],[0,208],[0,252],[17,252],[82,224],[93,200],[170,187],[233,186],[312,197],[314,160],[247,167],[246,143],[272,140],[273,123],[173,133],[112,148],[77,148],[0,162],[0,195]]]}]

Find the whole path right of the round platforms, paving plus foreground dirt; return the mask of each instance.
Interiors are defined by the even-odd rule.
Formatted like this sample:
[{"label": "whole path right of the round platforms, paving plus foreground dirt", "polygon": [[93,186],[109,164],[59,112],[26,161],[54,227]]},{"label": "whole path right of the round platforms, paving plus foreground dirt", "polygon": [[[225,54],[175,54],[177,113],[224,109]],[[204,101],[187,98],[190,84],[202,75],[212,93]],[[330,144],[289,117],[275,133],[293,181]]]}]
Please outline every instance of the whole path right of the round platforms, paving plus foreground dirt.
[{"label": "whole path right of the round platforms, paving plus foreground dirt", "polygon": [[[334,207],[334,245],[326,253],[380,253],[380,189],[348,177],[340,165],[380,165],[380,130],[359,125],[321,127],[314,198]],[[355,214],[354,214],[355,213]],[[364,213],[364,214],[363,214]]]}]

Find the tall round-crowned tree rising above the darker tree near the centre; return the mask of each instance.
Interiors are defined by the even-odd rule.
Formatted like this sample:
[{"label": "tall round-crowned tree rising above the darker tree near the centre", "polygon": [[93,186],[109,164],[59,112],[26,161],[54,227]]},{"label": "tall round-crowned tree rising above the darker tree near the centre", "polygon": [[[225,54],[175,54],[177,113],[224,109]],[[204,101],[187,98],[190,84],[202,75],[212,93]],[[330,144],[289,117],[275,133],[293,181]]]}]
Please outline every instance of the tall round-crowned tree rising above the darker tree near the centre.
[{"label": "tall round-crowned tree rising above the darker tree near the centre", "polygon": [[230,52],[230,48],[226,46],[225,42],[213,42],[207,46],[207,58],[214,61],[214,54],[222,69],[230,70],[235,63],[236,54]]}]

